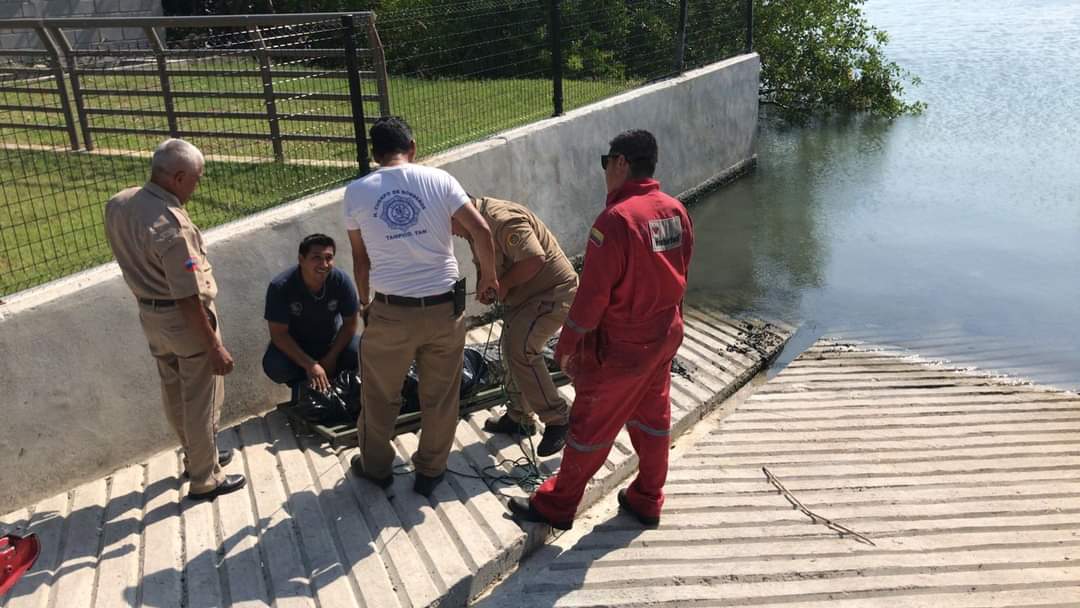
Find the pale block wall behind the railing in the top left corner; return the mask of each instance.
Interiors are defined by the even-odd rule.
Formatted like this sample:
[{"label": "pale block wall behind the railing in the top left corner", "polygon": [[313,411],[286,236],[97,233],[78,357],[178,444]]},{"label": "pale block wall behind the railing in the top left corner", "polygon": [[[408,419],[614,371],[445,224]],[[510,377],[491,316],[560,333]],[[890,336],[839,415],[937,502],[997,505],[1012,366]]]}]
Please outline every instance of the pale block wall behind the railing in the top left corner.
[{"label": "pale block wall behind the railing in the top left corner", "polygon": [[[161,0],[0,0],[0,19],[29,17],[151,17],[162,14]],[[143,45],[140,28],[94,28],[66,30],[79,49],[117,44]],[[0,29],[0,49],[40,49],[32,30]]]}]

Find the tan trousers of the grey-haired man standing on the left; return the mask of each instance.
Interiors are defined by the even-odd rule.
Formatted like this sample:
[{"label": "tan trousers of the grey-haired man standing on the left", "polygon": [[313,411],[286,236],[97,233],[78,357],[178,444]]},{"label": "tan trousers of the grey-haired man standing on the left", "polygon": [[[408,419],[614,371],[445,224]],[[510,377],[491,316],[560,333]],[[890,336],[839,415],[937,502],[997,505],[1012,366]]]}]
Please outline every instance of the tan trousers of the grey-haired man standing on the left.
[{"label": "tan trousers of the grey-haired man standing on the left", "polygon": [[[217,327],[217,311],[210,305]],[[205,492],[225,478],[217,463],[217,424],[225,400],[225,378],[215,376],[199,330],[189,327],[179,307],[139,305],[139,321],[158,362],[165,417],[184,446],[190,491]]]}]

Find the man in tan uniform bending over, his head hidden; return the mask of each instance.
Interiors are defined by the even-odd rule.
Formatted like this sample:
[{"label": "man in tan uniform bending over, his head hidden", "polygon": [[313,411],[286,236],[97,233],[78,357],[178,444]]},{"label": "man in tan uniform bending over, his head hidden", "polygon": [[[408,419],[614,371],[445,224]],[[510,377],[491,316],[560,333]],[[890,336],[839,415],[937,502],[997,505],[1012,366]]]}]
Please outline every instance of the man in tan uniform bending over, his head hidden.
[{"label": "man in tan uniform bending over, his head hidden", "polygon": [[[543,348],[566,320],[578,273],[551,230],[524,205],[488,197],[472,203],[491,228],[498,301],[505,307],[499,346],[510,404],[507,414],[488,419],[484,430],[532,435],[539,417],[544,433],[537,454],[551,456],[566,443],[570,406],[551,380]],[[455,234],[468,240],[457,226]]]}]

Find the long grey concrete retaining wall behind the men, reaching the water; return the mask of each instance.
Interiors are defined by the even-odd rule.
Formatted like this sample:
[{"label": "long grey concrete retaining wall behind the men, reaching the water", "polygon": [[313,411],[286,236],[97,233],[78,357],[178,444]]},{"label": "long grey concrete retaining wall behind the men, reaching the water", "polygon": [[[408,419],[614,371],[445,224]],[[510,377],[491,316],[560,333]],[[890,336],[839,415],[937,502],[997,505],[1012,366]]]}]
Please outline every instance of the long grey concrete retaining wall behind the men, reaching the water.
[{"label": "long grey concrete retaining wall behind the men, reaching the water", "polygon": [[[753,156],[759,67],[756,55],[737,57],[428,163],[474,194],[529,205],[568,254],[579,254],[604,204],[599,156],[610,138],[648,129],[660,144],[664,190],[690,190]],[[224,423],[287,397],[260,369],[266,284],[295,264],[300,238],[316,231],[341,243],[339,264],[348,269],[341,194],[333,190],[207,232],[225,340],[237,360],[226,380]],[[467,260],[467,247],[458,245]],[[471,271],[472,264],[461,268]],[[136,306],[114,265],[0,305],[0,513],[175,445]]]}]

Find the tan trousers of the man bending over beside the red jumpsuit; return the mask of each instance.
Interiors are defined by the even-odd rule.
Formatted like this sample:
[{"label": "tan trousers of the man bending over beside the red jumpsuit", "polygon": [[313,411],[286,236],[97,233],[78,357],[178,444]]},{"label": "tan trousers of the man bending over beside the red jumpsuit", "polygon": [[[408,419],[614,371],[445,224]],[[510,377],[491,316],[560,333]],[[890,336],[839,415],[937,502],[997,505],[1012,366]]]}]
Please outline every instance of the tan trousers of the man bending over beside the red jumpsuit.
[{"label": "tan trousers of the man bending over beside the red jumpsuit", "polygon": [[518,424],[531,425],[536,414],[544,424],[569,422],[570,404],[558,394],[543,360],[543,348],[563,326],[569,298],[544,294],[525,301],[503,317],[499,347],[507,365],[507,414]]}]

